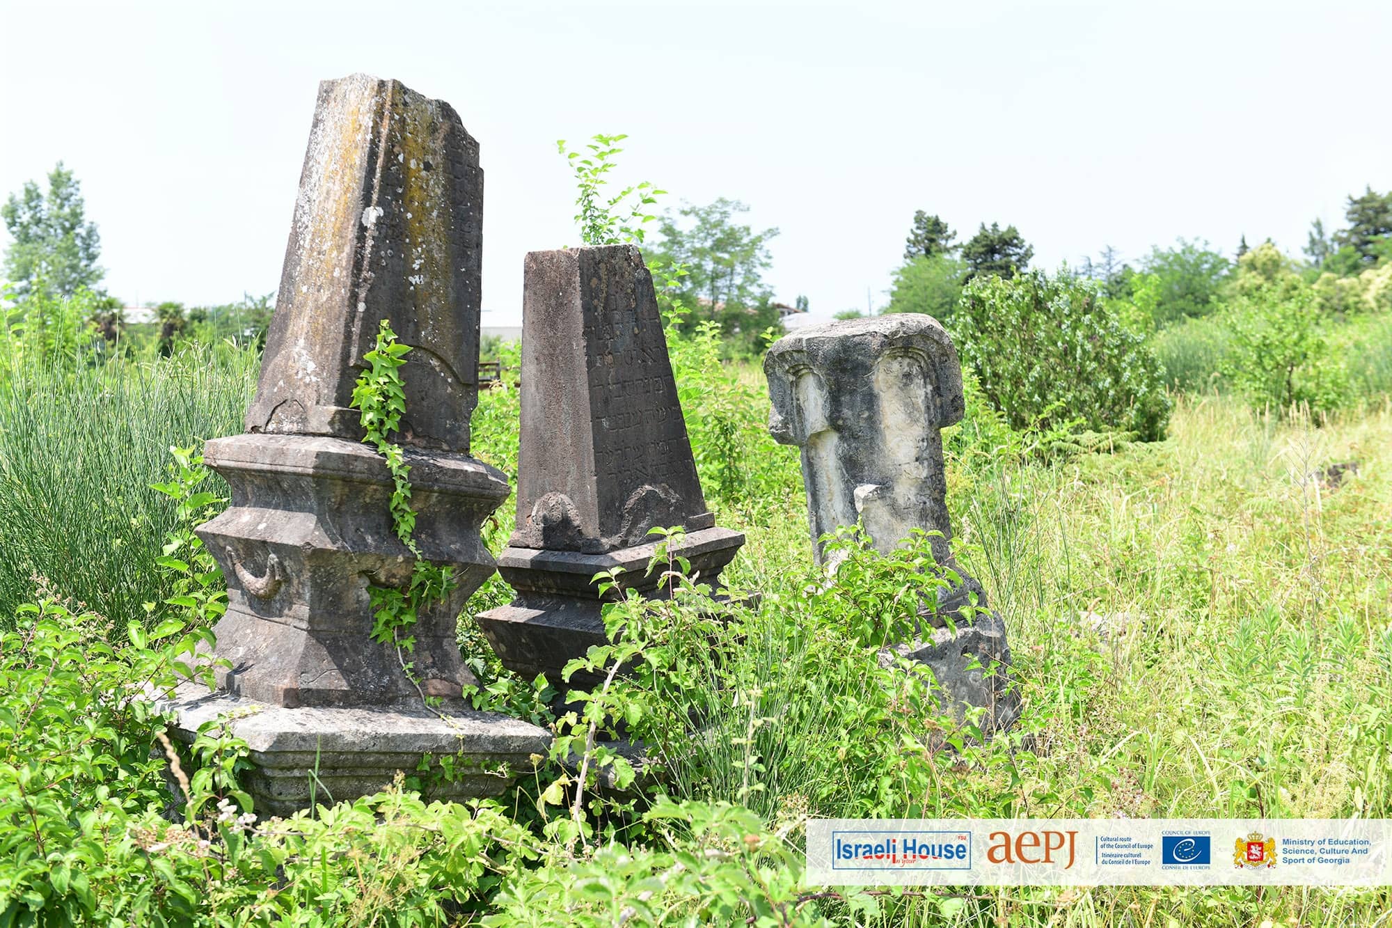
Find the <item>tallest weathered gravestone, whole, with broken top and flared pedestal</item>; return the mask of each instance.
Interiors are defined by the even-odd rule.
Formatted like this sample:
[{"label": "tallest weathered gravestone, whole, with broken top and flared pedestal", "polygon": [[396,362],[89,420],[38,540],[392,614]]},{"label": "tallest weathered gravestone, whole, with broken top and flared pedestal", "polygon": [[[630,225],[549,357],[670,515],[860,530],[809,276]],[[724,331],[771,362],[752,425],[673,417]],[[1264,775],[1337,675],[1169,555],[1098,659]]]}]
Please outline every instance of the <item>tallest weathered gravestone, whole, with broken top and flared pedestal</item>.
[{"label": "tallest weathered gravestone, whole, with broken top and flared pedestal", "polygon": [[[436,794],[468,797],[501,791],[494,771],[544,751],[540,729],[461,699],[475,680],[455,617],[494,570],[479,528],[508,495],[469,457],[482,216],[479,148],[447,103],[366,75],[320,85],[246,433],[205,449],[232,490],[198,529],[227,578],[216,655],[231,666],[216,693],[184,687],[174,704],[185,740],[219,713],[245,716],[231,727],[251,745],[259,811],[305,808],[316,766],[319,796],[345,800],[452,754],[469,775]],[[369,585],[401,585],[413,563],[393,531],[386,463],[349,408],[383,319],[412,347],[397,440],[415,538],[455,581],[411,631],[416,680],[369,637]]]}]

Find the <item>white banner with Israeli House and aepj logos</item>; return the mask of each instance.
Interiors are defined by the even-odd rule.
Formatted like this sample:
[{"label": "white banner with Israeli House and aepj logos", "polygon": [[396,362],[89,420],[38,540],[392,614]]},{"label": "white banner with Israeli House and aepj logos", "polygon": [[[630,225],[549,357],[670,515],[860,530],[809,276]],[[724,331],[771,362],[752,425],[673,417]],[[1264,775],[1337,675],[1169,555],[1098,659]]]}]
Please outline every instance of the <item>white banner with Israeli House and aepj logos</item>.
[{"label": "white banner with Israeli House and aepj logos", "polygon": [[814,886],[1384,886],[1392,819],[814,819]]}]

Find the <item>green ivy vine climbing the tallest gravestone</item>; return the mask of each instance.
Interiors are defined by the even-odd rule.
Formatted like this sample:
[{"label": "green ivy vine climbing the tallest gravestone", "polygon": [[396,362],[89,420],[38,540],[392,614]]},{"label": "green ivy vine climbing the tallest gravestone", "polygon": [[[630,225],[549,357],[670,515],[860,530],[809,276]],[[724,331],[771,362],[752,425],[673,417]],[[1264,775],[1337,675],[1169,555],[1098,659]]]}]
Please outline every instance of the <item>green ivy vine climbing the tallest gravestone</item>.
[{"label": "green ivy vine climbing the tallest gravestone", "polygon": [[402,670],[415,683],[411,662],[405,658],[416,644],[409,631],[420,610],[441,602],[450,594],[454,577],[450,567],[426,560],[416,545],[416,511],[411,509],[411,465],[406,464],[401,446],[391,440],[406,411],[406,393],[400,368],[406,362],[409,351],[411,346],[397,341],[397,333],[383,319],[377,330],[377,347],[363,355],[367,366],[354,387],[352,407],[362,414],[365,432],[362,440],[377,449],[387,461],[393,484],[388,502],[391,527],[415,557],[411,580],[405,588],[369,585],[373,610],[372,640],[393,645]]}]

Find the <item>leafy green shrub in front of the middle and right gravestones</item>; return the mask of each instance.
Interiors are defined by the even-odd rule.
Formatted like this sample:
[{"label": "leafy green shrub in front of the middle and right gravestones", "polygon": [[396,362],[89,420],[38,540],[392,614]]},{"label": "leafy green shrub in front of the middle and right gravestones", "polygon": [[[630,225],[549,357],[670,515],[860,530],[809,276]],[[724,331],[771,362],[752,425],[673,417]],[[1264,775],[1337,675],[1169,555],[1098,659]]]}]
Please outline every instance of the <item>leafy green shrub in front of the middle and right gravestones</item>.
[{"label": "leafy green shrub in front of the middle and right gravestones", "polygon": [[608,606],[612,644],[572,663],[592,673],[632,666],[603,695],[583,698],[590,718],[644,744],[674,796],[739,804],[774,822],[1008,815],[999,793],[954,789],[935,755],[952,744],[994,776],[1022,732],[983,745],[974,718],[942,713],[930,677],[877,655],[887,641],[912,638],[920,602],[945,582],[930,539],[920,534],[883,556],[852,528],[828,550],[839,560],[834,575],[784,566],[757,608],[713,602],[686,563],[660,553],[672,596]]}]

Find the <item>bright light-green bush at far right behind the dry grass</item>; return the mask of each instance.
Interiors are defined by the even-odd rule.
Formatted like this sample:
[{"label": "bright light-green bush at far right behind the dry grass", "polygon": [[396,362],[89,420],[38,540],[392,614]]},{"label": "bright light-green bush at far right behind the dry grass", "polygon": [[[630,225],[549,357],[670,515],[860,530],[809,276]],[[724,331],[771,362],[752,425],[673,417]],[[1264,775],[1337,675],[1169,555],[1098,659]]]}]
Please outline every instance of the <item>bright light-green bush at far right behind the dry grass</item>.
[{"label": "bright light-green bush at far right behind the dry grass", "polygon": [[1222,372],[1251,405],[1328,412],[1346,401],[1347,375],[1329,348],[1315,294],[1297,277],[1243,293],[1226,316],[1232,343]]}]

